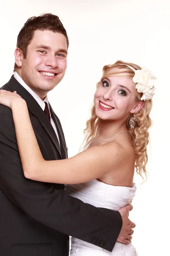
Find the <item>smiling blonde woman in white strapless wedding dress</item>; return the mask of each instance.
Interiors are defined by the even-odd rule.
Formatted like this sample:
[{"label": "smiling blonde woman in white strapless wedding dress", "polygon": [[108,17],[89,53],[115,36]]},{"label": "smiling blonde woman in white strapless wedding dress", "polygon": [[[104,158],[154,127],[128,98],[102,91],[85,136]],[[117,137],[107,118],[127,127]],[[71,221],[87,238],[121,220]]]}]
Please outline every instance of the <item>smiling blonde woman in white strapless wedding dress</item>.
[{"label": "smiling blonde woman in white strapless wedding dress", "polygon": [[[69,195],[96,207],[118,210],[129,204],[136,192],[134,169],[146,176],[155,79],[149,70],[132,63],[116,61],[103,67],[85,129],[84,150],[74,157],[53,161],[42,157],[26,102],[17,92],[0,90],[0,104],[12,110],[25,177],[69,184],[65,186]],[[72,238],[71,256],[137,255],[131,242],[116,242],[113,251],[108,252],[95,246],[102,243],[96,240],[92,238],[90,244]]]}]

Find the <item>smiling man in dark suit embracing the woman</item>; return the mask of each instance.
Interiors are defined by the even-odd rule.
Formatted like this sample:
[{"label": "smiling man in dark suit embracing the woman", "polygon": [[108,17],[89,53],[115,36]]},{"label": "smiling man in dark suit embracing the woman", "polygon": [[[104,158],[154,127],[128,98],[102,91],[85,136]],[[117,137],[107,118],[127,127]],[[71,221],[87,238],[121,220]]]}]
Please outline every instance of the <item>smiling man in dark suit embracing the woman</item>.
[{"label": "smiling man in dark suit embracing the woman", "polygon": [[[67,158],[62,127],[47,98],[65,74],[67,51],[68,36],[57,16],[31,17],[17,38],[14,75],[1,88],[26,100],[45,160]],[[0,105],[0,256],[67,256],[68,235],[112,251],[116,240],[131,239],[131,209],[96,208],[68,196],[64,185],[26,179],[11,110]]]}]

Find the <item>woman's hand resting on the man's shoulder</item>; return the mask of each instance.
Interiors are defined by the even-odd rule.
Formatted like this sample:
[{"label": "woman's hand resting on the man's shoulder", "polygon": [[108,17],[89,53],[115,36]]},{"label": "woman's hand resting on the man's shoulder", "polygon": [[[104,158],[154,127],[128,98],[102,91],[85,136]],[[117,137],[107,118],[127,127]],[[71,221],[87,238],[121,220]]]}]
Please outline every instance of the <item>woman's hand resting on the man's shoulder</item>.
[{"label": "woman's hand resting on the man's shoulder", "polygon": [[7,106],[8,108],[12,108],[13,104],[24,101],[16,91],[13,93],[0,90],[0,104]]}]

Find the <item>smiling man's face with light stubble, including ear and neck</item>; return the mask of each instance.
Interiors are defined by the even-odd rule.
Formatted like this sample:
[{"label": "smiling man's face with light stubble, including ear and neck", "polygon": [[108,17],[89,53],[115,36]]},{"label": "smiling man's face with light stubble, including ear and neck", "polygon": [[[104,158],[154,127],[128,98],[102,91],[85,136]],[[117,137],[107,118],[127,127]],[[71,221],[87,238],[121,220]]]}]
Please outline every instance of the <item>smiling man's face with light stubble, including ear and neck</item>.
[{"label": "smiling man's face with light stubble, including ear and neck", "polygon": [[[26,58],[15,50],[17,73],[43,99],[63,78],[67,67],[67,41],[64,35],[36,30],[27,47]],[[20,61],[18,61],[20,59]]]}]

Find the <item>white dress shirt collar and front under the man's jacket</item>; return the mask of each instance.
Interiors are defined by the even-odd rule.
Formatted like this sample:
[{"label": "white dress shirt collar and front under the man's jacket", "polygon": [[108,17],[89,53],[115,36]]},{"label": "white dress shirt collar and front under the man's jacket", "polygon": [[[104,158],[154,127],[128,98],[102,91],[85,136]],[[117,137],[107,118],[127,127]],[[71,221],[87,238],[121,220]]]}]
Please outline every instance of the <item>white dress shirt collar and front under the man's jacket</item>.
[{"label": "white dress shirt collar and front under the man's jacket", "polygon": [[[47,95],[46,95],[45,99],[42,100],[36,93],[34,93],[33,90],[31,90],[31,88],[23,81],[23,79],[18,75],[18,73],[16,71],[14,72],[14,78],[28,91],[28,93],[30,93],[33,96],[33,98],[37,101],[37,103],[40,105],[40,107],[44,111],[45,102],[47,102],[47,104],[48,104]],[[48,104],[48,109],[49,109],[49,112],[50,112],[49,104]],[[55,126],[54,120],[51,117],[51,113],[50,113],[50,119],[51,119],[51,125],[54,128],[54,131],[55,131],[55,133],[57,135],[57,138],[58,138],[58,141],[59,141],[59,135],[58,135],[57,128]]]}]

